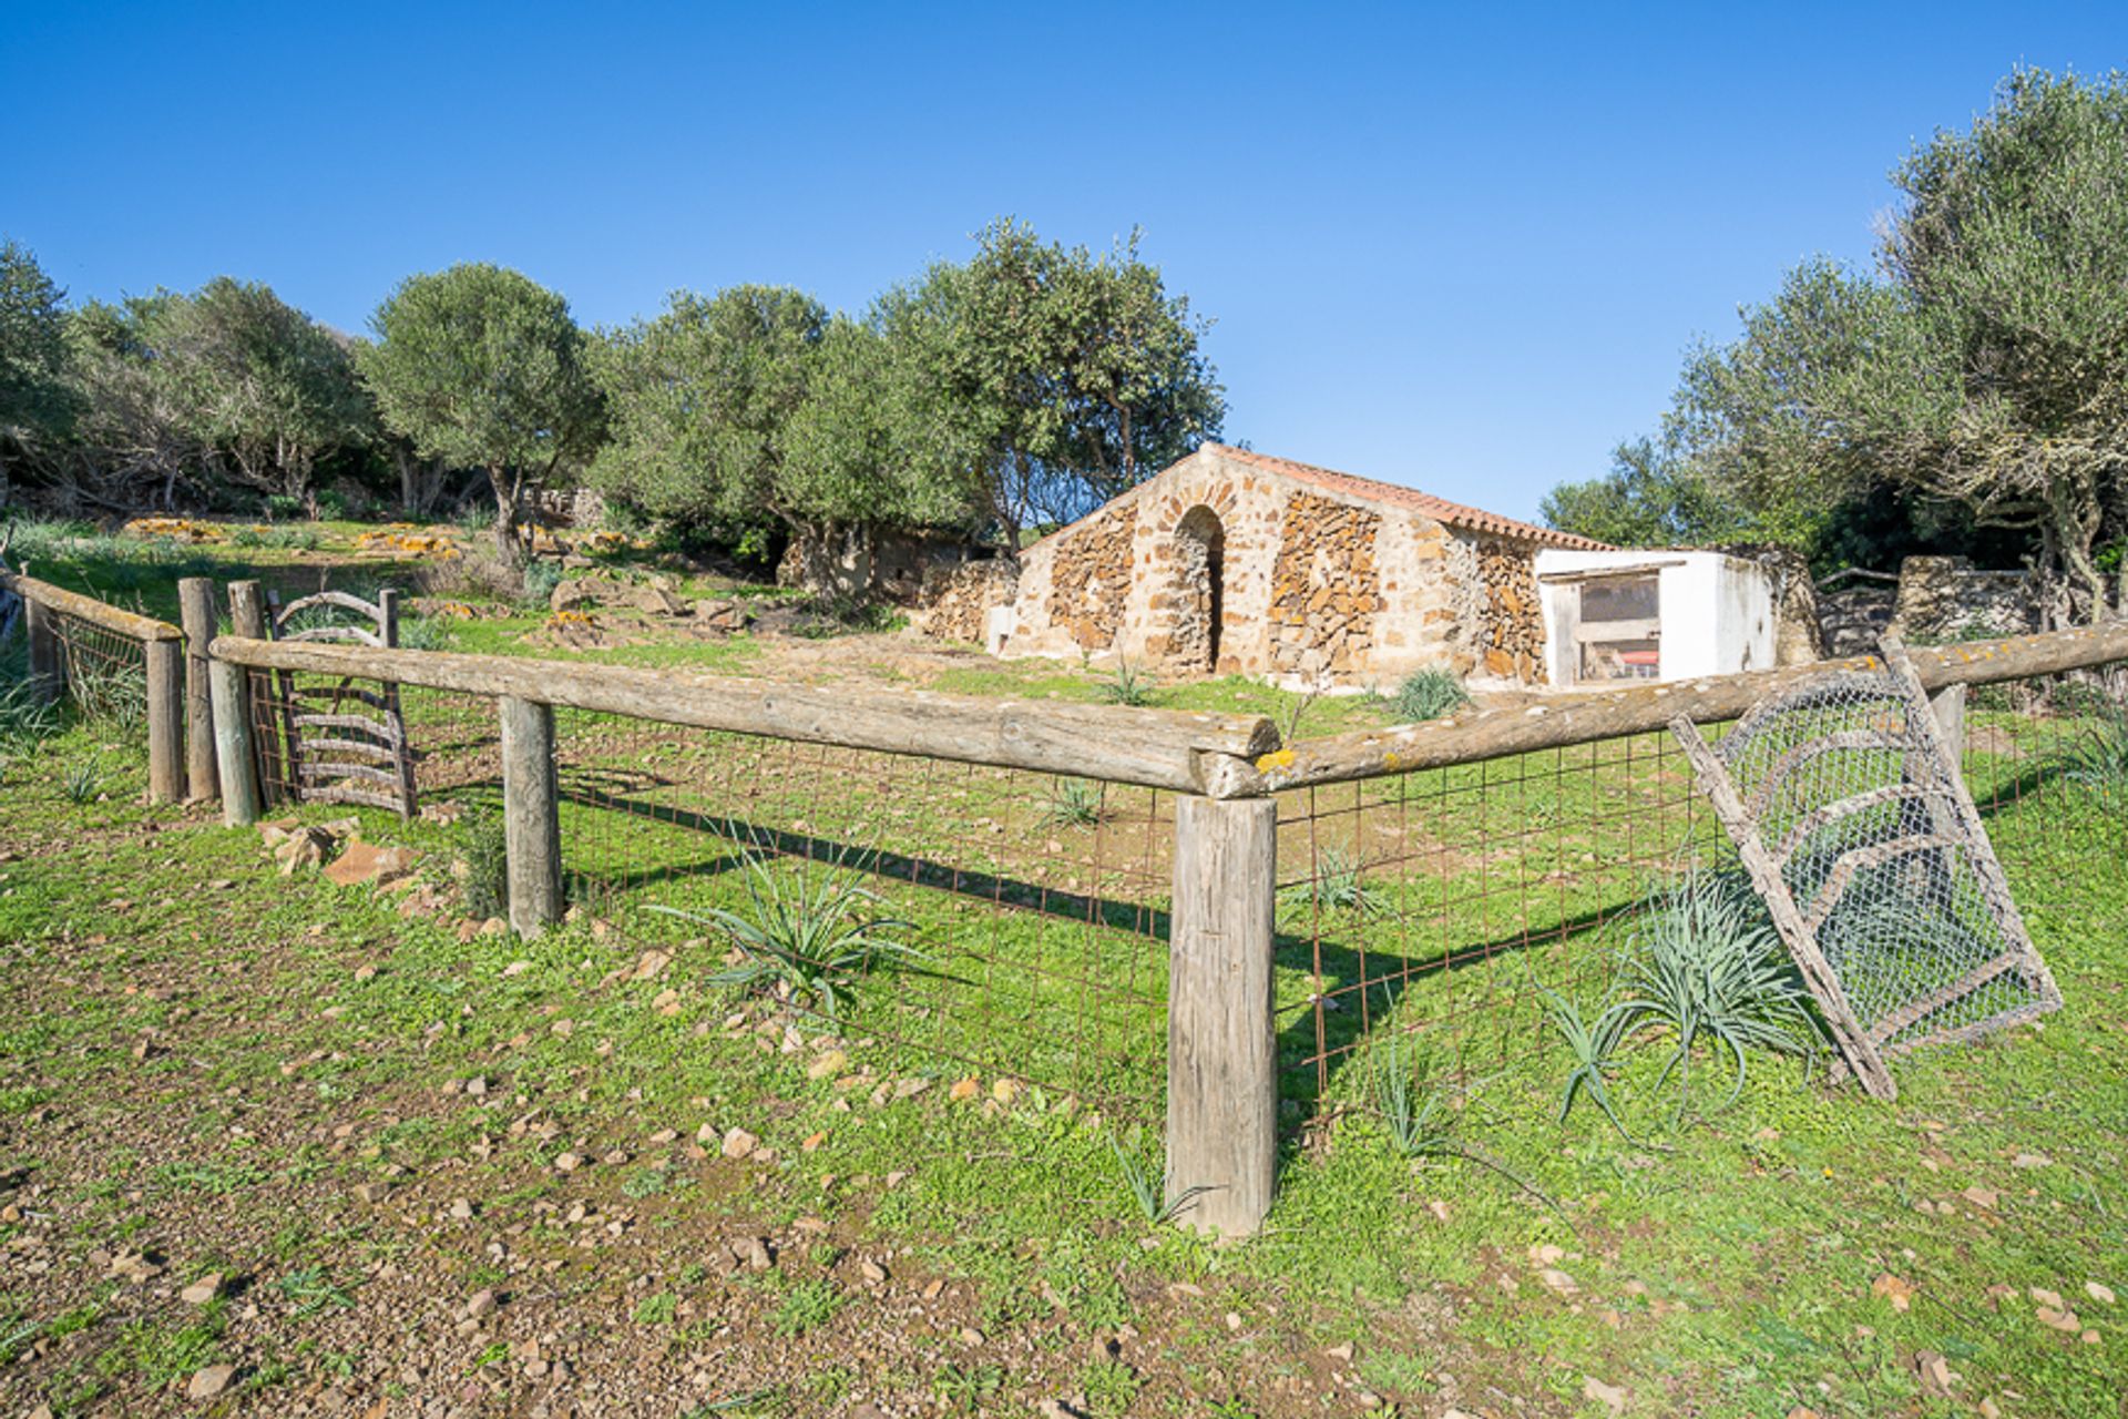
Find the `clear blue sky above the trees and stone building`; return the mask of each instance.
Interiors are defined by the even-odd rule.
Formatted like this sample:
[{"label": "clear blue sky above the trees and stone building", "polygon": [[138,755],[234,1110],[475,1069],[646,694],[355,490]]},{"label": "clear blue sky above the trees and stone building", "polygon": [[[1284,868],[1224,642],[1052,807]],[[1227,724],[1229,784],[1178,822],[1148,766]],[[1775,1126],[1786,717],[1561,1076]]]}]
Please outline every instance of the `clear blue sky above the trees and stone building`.
[{"label": "clear blue sky above the trees and stone building", "polygon": [[0,4],[0,232],[77,298],[268,281],[362,330],[517,266],[858,308],[1013,213],[1145,228],[1228,434],[1500,513],[1653,428],[1683,347],[2015,64],[2128,6]]}]

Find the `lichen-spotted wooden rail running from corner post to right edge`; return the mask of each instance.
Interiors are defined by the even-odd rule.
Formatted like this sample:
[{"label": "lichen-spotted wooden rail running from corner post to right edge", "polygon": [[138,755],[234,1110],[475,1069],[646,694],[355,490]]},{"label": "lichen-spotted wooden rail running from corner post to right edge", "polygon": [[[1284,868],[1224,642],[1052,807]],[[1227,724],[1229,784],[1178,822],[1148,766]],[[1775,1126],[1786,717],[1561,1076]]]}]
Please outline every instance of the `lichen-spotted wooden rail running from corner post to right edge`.
[{"label": "lichen-spotted wooden rail running from corner post to right edge", "polygon": [[[1909,647],[1907,655],[1928,691],[1947,685],[1988,685],[2034,674],[2060,674],[2128,660],[2128,621],[2077,630],[1973,640],[1964,645]],[[1479,706],[1392,730],[1364,730],[1330,738],[1300,740],[1256,762],[1264,789],[1313,783],[1349,783],[1404,774],[1417,768],[1477,764],[1534,749],[1564,749],[1626,734],[1649,734],[1679,715],[1696,723],[1736,719],[1762,698],[1796,681],[1828,670],[1877,670],[1875,655],[1819,660],[1785,670],[1756,670],[1666,685],[1573,691],[1534,702]]]}]

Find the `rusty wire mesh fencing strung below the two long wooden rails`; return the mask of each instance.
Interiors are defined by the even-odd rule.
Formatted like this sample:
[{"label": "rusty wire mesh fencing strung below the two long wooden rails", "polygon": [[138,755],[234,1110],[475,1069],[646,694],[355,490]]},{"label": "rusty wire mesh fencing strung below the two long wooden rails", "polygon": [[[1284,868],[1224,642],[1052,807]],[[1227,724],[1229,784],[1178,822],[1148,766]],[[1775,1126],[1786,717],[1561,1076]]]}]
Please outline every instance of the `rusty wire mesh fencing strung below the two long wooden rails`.
[{"label": "rusty wire mesh fencing strung below the two long wooden rails", "polygon": [[[260,745],[304,681],[330,685],[253,672]],[[496,704],[417,687],[402,704],[426,815],[466,842],[500,802]],[[892,923],[875,938],[894,949],[858,949],[828,989],[802,972],[734,985],[713,1028],[802,1019],[902,1074],[1160,1117],[1170,794],[566,708],[555,723],[568,900],[600,934],[715,981],[760,955],[732,921],[800,896]],[[289,802],[285,755],[266,768]],[[2045,915],[2049,864],[2128,849],[2128,674],[1975,689],[1964,772],[2019,906]],[[1651,896],[1724,849],[1668,734],[1281,794],[1287,1121],[1368,1106],[1385,1040],[1445,1087],[1562,1072],[1543,991],[1600,1000]]]}]

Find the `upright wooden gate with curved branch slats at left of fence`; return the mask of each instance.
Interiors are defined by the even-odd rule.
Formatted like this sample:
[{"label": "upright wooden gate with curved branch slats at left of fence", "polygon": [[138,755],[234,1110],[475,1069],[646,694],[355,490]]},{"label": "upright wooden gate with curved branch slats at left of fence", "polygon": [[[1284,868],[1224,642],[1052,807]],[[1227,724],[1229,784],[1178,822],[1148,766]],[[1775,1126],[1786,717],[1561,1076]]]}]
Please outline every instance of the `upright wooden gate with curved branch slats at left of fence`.
[{"label": "upright wooden gate with curved branch slats at left of fence", "polygon": [[[398,645],[398,591],[379,591],[375,602],[347,591],[317,591],[285,606],[268,591],[266,606],[272,640]],[[292,674],[275,672],[275,700],[285,742],[283,787],[292,798],[366,804],[413,817],[413,749],[398,685],[360,689],[353,679],[298,685]]]}]

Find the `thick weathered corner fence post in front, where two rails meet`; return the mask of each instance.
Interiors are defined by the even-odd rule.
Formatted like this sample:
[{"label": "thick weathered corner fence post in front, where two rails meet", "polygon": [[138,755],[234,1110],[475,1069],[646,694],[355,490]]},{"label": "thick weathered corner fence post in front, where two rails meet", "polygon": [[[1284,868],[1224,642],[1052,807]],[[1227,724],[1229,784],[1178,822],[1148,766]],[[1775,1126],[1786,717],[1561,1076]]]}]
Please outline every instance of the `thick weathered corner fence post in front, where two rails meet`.
[{"label": "thick weathered corner fence post in front, where two rails meet", "polygon": [[1279,1053],[1270,1015],[1279,804],[1175,800],[1168,921],[1168,1202],[1177,1221],[1249,1236],[1270,1211]]}]

